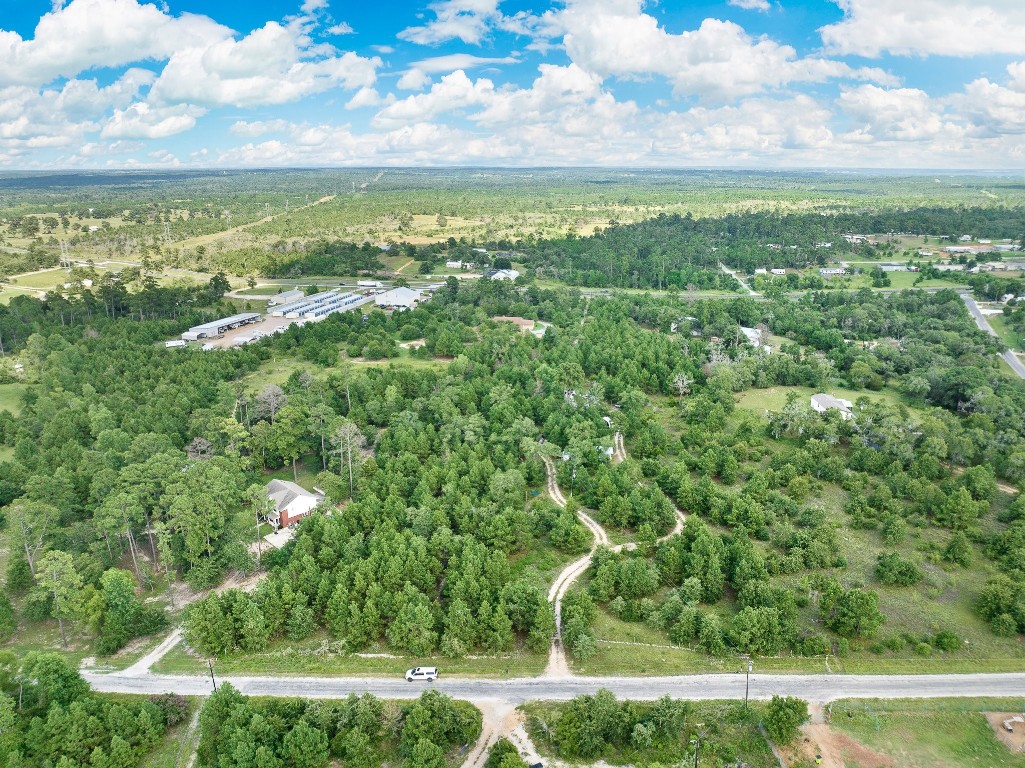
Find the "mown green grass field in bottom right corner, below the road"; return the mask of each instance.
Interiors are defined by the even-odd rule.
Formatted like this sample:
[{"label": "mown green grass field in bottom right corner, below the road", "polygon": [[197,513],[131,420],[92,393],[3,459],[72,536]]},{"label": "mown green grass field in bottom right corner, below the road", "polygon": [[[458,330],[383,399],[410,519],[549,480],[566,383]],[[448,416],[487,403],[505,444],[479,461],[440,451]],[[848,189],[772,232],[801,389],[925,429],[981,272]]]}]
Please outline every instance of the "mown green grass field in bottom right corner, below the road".
[{"label": "mown green grass field in bottom right corner, below the road", "polygon": [[892,755],[900,766],[1001,766],[1022,768],[997,740],[984,712],[1021,713],[1016,699],[842,700],[833,703],[831,726]]}]

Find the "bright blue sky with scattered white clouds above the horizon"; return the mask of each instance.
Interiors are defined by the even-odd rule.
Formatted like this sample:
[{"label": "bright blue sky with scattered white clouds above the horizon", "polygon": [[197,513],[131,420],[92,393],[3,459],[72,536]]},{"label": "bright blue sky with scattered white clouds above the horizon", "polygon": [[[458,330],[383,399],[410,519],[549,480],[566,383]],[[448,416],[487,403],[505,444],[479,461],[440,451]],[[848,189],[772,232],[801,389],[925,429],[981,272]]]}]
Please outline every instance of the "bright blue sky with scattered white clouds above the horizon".
[{"label": "bright blue sky with scattered white clouds above the horizon", "polygon": [[20,0],[0,167],[1025,168],[1020,0]]}]

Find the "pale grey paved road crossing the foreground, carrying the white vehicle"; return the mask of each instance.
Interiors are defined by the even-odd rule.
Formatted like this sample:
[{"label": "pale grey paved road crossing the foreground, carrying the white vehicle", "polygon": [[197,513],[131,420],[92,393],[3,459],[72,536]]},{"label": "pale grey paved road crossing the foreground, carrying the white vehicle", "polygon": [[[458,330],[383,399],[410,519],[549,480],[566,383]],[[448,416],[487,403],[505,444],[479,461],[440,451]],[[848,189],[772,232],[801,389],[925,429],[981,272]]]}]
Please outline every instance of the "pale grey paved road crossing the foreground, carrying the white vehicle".
[{"label": "pale grey paved road crossing the foreground, carrying the white vehicle", "polygon": [[[97,691],[112,693],[180,693],[206,695],[210,679],[197,676],[98,675],[84,673]],[[245,694],[340,698],[369,691],[382,698],[418,695],[425,685],[405,680],[368,678],[218,678]],[[539,699],[568,699],[608,688],[625,699],[708,699],[744,697],[744,676],[692,675],[666,678],[528,678],[470,680],[442,678],[433,684],[456,698],[469,701],[506,701],[519,704]],[[941,696],[1025,696],[1025,673],[1002,675],[751,675],[751,698],[773,694],[801,696],[813,702],[836,698],[936,698]]]}]

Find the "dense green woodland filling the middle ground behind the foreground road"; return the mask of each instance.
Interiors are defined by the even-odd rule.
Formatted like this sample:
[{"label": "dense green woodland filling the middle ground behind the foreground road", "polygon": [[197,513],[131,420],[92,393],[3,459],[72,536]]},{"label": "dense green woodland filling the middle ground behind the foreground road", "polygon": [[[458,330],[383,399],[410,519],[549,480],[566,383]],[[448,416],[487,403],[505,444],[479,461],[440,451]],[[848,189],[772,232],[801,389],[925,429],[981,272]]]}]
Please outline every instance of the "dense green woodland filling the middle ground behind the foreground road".
[{"label": "dense green woodland filling the middle ground behind the foreground road", "polygon": [[[1000,486],[1025,478],[1025,385],[953,291],[682,305],[453,279],[413,312],[213,354],[158,346],[184,317],[66,300],[74,321],[12,305],[29,381],[0,418],[7,634],[53,620],[111,653],[164,623],[133,588],[172,601],[178,580],[262,567],[252,592],[189,607],[194,649],[326,634],[343,652],[543,654],[551,569],[589,544],[575,504],[636,544],[600,550],[567,596],[581,663],[612,620],[711,656],[957,656],[971,637],[999,657],[1025,631],[1025,502]],[[741,325],[782,343],[758,352]],[[291,361],[280,386],[247,383],[273,360]],[[799,394],[837,387],[859,393],[849,419]],[[629,460],[602,450],[606,418]],[[566,510],[531,494],[545,456],[565,459]],[[335,512],[259,560],[262,484],[299,464]],[[660,540],[673,502],[687,523]]]}]

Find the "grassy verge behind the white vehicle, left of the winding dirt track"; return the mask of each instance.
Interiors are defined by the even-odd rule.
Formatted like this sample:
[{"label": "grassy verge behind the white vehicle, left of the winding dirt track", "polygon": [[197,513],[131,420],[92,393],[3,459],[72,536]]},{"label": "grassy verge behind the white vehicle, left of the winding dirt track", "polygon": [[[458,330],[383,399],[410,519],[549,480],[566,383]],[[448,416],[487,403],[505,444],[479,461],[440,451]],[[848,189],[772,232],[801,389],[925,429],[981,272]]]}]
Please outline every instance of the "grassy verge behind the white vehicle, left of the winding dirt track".
[{"label": "grassy verge behind the white vehicle, left of the winding dirt track", "polygon": [[[386,653],[386,649],[371,649],[363,655],[346,653],[325,633],[317,633],[300,642],[286,639],[272,641],[261,653],[230,655],[214,662],[218,675],[359,675],[401,678],[411,666],[433,664],[442,675],[481,678],[535,677],[547,663],[546,654],[510,651],[496,656],[444,658],[405,657]],[[206,657],[193,655],[177,646],[154,665],[163,674],[194,674],[206,672]],[[419,691],[412,691],[416,694]]]}]

